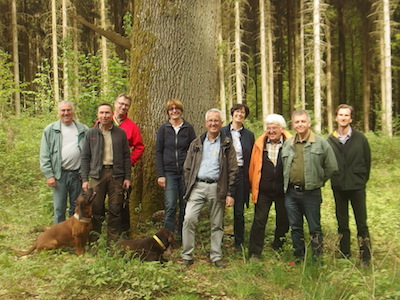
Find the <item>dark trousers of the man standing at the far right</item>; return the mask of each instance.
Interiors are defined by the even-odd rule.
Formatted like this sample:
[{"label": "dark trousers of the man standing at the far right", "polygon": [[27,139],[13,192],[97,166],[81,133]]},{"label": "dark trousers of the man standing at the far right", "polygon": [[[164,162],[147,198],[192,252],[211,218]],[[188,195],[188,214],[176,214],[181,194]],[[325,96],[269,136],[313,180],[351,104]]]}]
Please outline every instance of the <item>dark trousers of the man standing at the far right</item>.
[{"label": "dark trousers of the man standing at the far right", "polygon": [[365,190],[333,191],[336,206],[336,219],[340,237],[340,251],[350,256],[349,201],[357,224],[357,236],[361,259],[371,259],[371,244],[367,225],[367,206]]}]

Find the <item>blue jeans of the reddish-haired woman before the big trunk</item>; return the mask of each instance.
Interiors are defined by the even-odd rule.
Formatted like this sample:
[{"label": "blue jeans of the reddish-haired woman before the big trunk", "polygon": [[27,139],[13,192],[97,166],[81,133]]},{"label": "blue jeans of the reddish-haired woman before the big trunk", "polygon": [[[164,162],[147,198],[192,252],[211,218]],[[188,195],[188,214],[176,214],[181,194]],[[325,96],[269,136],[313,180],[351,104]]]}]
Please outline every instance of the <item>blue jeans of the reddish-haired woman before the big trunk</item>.
[{"label": "blue jeans of the reddish-haired woman before the big trunk", "polygon": [[183,201],[185,183],[182,174],[175,172],[165,172],[166,186],[164,190],[164,227],[175,232],[176,207],[179,203],[179,224],[178,236],[182,236],[182,224],[185,217],[186,203]]}]

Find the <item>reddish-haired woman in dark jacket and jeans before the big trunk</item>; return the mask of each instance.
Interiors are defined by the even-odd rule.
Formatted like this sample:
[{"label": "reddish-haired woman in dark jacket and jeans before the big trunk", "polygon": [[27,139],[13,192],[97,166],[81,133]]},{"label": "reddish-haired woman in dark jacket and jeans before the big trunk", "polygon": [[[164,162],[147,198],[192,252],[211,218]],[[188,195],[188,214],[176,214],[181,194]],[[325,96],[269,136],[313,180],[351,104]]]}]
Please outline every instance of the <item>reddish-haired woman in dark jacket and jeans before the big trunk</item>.
[{"label": "reddish-haired woman in dark jacket and jeans before the big trunk", "polygon": [[156,168],[158,184],[164,189],[164,227],[175,232],[176,206],[179,202],[178,237],[182,236],[185,214],[183,193],[185,185],[182,167],[190,143],[196,138],[193,126],[182,118],[183,104],[178,99],[168,100],[168,121],[157,132]]}]

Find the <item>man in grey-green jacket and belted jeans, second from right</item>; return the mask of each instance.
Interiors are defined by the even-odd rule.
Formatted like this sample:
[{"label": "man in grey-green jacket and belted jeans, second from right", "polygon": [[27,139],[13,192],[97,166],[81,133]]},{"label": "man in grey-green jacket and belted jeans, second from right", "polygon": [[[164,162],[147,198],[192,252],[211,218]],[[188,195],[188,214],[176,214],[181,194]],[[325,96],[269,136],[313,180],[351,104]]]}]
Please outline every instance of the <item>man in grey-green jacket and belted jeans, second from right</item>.
[{"label": "man in grey-green jacket and belted jeans, second from right", "polygon": [[292,115],[296,135],[282,148],[285,207],[294,247],[295,262],[304,260],[304,216],[311,236],[313,260],[322,253],[321,187],[337,170],[335,154],[329,143],[314,134],[311,118],[304,109]]}]

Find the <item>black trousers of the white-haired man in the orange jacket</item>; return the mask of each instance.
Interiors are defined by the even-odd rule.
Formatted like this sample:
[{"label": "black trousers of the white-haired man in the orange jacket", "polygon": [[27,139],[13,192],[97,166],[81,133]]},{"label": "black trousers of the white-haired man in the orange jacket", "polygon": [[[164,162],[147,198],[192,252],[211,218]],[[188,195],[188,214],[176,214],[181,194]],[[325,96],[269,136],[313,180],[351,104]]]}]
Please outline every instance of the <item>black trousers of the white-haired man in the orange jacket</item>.
[{"label": "black trousers of the white-haired man in the orange jacket", "polygon": [[286,213],[284,196],[267,196],[259,194],[254,207],[254,220],[250,231],[249,256],[260,256],[264,247],[265,227],[268,221],[269,210],[275,202],[275,238],[272,243],[274,249],[282,247],[285,235],[289,231],[289,220]]}]

